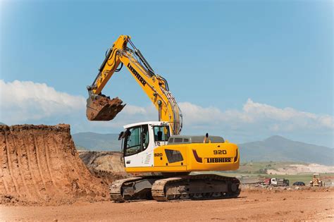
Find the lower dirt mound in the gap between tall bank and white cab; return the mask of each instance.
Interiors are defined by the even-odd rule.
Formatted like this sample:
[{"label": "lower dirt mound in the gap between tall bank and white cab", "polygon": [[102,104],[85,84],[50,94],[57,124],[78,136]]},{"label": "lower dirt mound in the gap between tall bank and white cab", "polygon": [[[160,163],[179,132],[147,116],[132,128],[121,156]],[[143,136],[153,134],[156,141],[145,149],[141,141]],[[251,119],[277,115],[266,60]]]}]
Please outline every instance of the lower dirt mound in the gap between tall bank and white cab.
[{"label": "lower dirt mound in the gap between tall bank and white cab", "polygon": [[120,152],[80,151],[79,156],[89,171],[107,184],[130,177],[130,174],[125,173]]}]

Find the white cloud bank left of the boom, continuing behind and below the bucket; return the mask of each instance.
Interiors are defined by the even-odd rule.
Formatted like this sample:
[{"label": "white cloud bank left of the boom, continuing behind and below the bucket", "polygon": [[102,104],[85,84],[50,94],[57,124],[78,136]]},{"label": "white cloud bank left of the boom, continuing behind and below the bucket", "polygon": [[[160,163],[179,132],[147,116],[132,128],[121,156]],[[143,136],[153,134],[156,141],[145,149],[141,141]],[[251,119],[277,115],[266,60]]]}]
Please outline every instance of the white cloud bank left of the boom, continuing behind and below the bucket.
[{"label": "white cloud bank left of the boom, continuing behind and below the bucket", "polygon": [[149,121],[158,115],[153,105],[130,104],[109,122],[88,121],[85,112],[85,97],[58,92],[45,83],[0,80],[0,121],[8,125],[69,123],[73,132],[113,132],[128,123]]}]

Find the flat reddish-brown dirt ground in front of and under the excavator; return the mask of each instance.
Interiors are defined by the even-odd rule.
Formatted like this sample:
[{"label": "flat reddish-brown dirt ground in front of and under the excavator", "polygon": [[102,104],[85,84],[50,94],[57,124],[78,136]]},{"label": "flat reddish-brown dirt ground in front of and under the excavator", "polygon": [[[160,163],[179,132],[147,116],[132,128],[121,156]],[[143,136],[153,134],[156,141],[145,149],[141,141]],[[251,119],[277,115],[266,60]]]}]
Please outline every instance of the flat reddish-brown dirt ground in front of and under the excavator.
[{"label": "flat reddish-brown dirt ground in front of and under the excavator", "polygon": [[1,206],[0,221],[333,221],[334,191],[244,191],[237,199]]}]

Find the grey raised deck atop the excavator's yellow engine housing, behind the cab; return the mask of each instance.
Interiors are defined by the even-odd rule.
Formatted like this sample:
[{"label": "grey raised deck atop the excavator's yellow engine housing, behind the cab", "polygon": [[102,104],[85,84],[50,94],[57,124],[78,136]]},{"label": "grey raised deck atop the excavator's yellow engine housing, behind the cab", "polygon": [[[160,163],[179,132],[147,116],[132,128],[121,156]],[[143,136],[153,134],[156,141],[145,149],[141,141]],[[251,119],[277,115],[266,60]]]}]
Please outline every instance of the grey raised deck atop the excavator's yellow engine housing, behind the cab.
[{"label": "grey raised deck atop the excavator's yellow engine housing, behind the cab", "polygon": [[[169,137],[168,144],[188,144],[188,143],[203,143],[204,135],[172,135]],[[223,143],[223,137],[209,136],[208,141],[211,143]]]}]

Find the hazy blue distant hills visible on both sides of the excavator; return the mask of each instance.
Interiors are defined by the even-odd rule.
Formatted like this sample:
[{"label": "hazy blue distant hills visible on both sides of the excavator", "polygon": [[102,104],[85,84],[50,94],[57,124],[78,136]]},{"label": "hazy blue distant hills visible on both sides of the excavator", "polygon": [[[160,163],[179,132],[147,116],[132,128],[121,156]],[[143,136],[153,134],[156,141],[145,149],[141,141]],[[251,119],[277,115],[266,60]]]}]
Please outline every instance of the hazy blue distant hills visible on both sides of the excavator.
[{"label": "hazy blue distant hills visible on both sides of the excavator", "polygon": [[[73,134],[75,146],[81,150],[120,151],[121,141],[114,133],[80,132]],[[79,148],[80,147],[80,148]],[[263,141],[239,144],[242,162],[288,161],[333,166],[334,149],[272,136]]]}]

